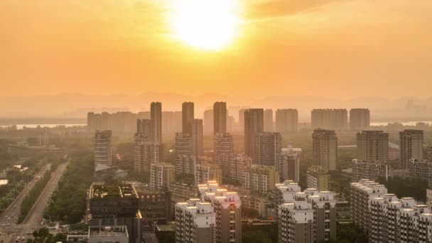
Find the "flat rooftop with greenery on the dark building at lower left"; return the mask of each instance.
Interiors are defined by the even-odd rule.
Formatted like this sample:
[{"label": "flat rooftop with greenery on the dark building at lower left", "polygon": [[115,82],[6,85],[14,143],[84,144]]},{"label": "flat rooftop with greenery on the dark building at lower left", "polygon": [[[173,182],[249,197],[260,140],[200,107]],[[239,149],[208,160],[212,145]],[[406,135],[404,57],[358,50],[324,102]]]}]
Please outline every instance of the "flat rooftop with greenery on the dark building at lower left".
[{"label": "flat rooftop with greenery on the dark building at lower left", "polygon": [[134,185],[95,185],[90,188],[90,198],[138,198]]}]

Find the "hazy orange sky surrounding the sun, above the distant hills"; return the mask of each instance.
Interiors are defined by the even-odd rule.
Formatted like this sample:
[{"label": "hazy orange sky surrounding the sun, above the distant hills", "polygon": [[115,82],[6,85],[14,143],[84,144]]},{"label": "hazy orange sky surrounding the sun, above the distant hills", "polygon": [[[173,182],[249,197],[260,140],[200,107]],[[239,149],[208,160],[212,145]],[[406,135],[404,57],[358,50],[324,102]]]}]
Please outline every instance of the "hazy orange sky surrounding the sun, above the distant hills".
[{"label": "hazy orange sky surrounding the sun, above the distant hills", "polygon": [[171,1],[1,0],[0,95],[431,96],[430,0],[238,0],[214,52],[173,38]]}]

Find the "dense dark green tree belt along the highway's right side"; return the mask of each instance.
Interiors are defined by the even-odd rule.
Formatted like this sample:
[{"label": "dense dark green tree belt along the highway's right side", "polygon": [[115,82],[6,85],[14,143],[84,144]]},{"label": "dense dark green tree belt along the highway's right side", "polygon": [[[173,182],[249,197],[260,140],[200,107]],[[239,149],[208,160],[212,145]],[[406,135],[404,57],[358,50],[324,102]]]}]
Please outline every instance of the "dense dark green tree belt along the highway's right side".
[{"label": "dense dark green tree belt along the highway's right side", "polygon": [[80,222],[85,215],[86,195],[95,171],[93,154],[81,151],[70,154],[71,161],[51,195],[44,217],[69,224]]}]

